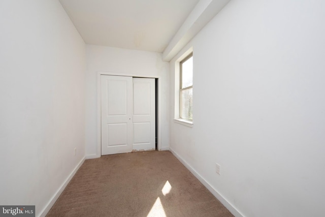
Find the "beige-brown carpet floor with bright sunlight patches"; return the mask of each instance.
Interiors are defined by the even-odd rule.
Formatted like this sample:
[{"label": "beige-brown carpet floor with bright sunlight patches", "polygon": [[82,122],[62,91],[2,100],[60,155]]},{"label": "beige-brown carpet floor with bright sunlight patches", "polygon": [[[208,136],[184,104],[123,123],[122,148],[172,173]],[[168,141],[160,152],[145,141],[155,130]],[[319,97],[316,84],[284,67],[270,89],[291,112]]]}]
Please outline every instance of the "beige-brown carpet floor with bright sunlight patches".
[{"label": "beige-brown carpet floor with bright sunlight patches", "polygon": [[233,216],[170,151],[86,160],[51,216]]}]

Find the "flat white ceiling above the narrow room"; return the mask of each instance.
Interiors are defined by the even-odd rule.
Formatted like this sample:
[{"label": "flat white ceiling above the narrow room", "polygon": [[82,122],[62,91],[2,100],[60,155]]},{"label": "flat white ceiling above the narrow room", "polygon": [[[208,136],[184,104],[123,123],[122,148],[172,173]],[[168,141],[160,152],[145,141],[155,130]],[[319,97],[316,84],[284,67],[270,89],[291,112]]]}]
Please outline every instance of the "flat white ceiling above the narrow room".
[{"label": "flat white ceiling above the narrow room", "polygon": [[86,44],[163,52],[199,0],[59,0]]}]

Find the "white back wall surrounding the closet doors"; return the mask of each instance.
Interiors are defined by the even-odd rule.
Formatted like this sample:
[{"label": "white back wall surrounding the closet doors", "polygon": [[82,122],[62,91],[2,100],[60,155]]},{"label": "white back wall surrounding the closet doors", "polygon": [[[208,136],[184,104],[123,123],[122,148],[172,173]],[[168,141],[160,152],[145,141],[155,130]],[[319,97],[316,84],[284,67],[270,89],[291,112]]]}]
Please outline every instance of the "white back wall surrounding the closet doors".
[{"label": "white back wall surrounding the closet doors", "polygon": [[98,72],[117,75],[159,76],[161,148],[169,147],[169,63],[161,53],[86,45],[86,156],[98,157]]}]

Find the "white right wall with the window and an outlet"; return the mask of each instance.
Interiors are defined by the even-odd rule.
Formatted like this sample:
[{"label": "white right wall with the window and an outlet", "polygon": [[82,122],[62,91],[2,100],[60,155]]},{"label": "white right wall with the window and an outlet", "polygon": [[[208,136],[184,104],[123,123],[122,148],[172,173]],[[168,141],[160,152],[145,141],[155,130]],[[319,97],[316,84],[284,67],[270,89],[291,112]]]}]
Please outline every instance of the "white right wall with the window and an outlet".
[{"label": "white right wall with the window and an outlet", "polygon": [[171,120],[170,147],[237,215],[324,215],[324,11],[320,0],[232,0],[183,49],[193,46],[194,126]]}]

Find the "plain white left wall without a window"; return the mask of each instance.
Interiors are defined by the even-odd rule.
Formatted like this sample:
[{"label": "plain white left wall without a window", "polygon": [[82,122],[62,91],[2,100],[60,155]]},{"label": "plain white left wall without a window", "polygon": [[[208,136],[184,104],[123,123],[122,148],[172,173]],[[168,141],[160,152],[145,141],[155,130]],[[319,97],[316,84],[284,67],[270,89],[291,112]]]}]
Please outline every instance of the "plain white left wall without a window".
[{"label": "plain white left wall without a window", "polygon": [[38,216],[85,156],[85,44],[56,0],[2,0],[0,29],[0,204]]}]

